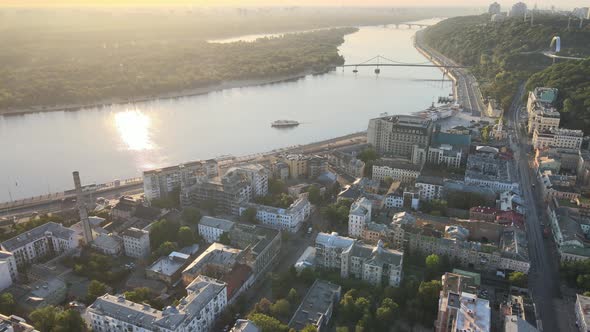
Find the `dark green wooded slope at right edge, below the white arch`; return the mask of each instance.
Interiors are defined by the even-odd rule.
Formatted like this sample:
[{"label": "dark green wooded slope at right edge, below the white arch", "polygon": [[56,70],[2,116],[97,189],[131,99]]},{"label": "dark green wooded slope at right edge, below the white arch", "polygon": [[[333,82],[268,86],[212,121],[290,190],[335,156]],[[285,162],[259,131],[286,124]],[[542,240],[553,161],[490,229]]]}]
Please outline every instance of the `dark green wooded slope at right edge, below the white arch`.
[{"label": "dark green wooded slope at right edge, below the white arch", "polygon": [[532,90],[537,86],[559,89],[558,108],[563,127],[590,133],[590,58],[559,63],[534,74],[527,88]]}]

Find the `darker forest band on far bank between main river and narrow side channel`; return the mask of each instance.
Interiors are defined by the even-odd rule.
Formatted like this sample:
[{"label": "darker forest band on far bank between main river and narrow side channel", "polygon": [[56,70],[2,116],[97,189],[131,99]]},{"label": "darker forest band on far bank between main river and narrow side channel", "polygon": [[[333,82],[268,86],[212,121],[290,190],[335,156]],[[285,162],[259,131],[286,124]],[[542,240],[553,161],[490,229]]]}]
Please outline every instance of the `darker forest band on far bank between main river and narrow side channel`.
[{"label": "darker forest band on far bank between main river and narrow side channel", "polygon": [[253,43],[166,40],[98,47],[81,42],[69,49],[48,47],[30,54],[27,63],[15,54],[22,49],[5,49],[0,108],[149,97],[228,80],[324,71],[344,62],[337,48],[354,31],[321,30]]}]

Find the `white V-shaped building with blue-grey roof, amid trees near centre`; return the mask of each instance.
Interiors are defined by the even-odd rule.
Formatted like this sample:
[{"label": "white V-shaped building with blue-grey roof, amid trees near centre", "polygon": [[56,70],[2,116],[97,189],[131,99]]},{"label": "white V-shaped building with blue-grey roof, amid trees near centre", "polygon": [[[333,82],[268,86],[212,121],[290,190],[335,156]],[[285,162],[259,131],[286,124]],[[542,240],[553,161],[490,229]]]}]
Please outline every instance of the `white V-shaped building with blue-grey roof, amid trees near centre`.
[{"label": "white V-shaped building with blue-grey roof, amid trees near centre", "polygon": [[298,232],[311,213],[311,204],[305,195],[301,195],[287,209],[248,203],[240,207],[239,214],[249,208],[256,210],[256,219],[261,223],[291,233]]}]

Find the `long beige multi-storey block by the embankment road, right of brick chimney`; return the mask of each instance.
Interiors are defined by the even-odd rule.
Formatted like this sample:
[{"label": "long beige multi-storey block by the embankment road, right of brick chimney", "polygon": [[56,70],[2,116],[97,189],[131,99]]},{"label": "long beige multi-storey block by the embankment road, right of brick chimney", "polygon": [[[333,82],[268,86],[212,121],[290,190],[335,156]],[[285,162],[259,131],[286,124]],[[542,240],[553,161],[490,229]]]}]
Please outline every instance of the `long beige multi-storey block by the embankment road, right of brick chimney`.
[{"label": "long beige multi-storey block by the embankment road, right of brick chimney", "polygon": [[198,178],[212,178],[219,175],[217,161],[194,161],[176,166],[143,172],[143,191],[146,202],[167,197],[181,186],[190,186]]}]

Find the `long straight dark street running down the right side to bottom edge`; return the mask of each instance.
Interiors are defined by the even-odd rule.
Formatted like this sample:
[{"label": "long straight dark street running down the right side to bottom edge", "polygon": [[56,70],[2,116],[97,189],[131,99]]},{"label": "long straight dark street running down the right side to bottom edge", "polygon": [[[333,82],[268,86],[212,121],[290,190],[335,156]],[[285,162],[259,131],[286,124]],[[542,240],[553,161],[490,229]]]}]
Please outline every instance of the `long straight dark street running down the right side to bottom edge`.
[{"label": "long straight dark street running down the right side to bottom edge", "polygon": [[[539,209],[543,199],[534,190],[533,185],[537,182],[536,176],[529,164],[528,152],[530,145],[528,137],[521,127],[520,103],[525,93],[524,86],[521,86],[510,108],[509,116],[506,117],[509,128],[512,128],[513,148],[515,148],[515,159],[520,176],[520,188],[526,202],[526,233],[529,245],[529,258],[531,269],[529,271],[529,289],[537,309],[539,327],[543,331],[559,331],[558,316],[554,299],[559,294],[559,278],[555,260],[552,257],[550,248],[542,235],[542,226],[546,220],[545,211]],[[542,204],[541,204],[542,206]]]}]

